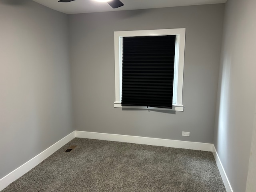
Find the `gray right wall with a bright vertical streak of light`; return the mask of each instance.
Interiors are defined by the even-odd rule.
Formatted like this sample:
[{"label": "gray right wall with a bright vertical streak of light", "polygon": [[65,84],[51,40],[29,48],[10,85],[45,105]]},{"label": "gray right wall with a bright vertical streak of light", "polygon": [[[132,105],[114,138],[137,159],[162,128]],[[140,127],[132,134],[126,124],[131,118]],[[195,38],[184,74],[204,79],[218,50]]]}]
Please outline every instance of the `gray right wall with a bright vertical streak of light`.
[{"label": "gray right wall with a bright vertical streak of light", "polygon": [[228,0],[214,145],[234,192],[244,192],[256,104],[256,1]]}]

